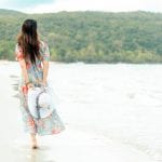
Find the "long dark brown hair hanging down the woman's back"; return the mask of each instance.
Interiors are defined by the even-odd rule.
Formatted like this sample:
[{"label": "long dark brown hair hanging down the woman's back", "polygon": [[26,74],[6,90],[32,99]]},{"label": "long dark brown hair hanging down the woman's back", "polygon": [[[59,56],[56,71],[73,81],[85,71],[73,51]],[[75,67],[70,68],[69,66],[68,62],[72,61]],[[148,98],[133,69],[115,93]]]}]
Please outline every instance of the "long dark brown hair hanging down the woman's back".
[{"label": "long dark brown hair hanging down the woman's back", "polygon": [[32,64],[36,64],[36,57],[40,58],[40,41],[37,32],[37,22],[35,19],[26,19],[23,23],[22,32],[17,42],[23,50],[24,57],[29,58]]}]

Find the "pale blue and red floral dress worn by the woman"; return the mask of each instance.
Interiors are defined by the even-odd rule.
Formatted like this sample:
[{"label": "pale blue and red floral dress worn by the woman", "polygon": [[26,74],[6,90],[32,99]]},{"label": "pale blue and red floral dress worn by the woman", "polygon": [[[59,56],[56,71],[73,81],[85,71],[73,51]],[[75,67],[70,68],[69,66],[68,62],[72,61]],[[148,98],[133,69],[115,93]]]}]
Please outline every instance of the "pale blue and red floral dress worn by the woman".
[{"label": "pale blue and red floral dress worn by the woman", "polygon": [[[29,81],[33,85],[40,86],[40,81],[43,79],[43,68],[42,60],[50,62],[50,51],[45,42],[40,42],[40,55],[42,59],[36,58],[36,66],[31,64],[30,60],[26,62],[26,68],[28,72]],[[15,46],[15,60],[19,62],[24,58],[22,49],[16,44]],[[49,81],[46,81],[49,82]],[[27,105],[27,92],[28,89],[25,85],[25,80],[23,73],[21,75],[18,82],[18,97],[19,97],[19,108],[23,117],[24,131],[27,133],[35,133],[38,135],[52,135],[60,133],[65,130],[65,125],[60,120],[56,109],[48,116],[40,120],[33,118],[28,109]]]}]

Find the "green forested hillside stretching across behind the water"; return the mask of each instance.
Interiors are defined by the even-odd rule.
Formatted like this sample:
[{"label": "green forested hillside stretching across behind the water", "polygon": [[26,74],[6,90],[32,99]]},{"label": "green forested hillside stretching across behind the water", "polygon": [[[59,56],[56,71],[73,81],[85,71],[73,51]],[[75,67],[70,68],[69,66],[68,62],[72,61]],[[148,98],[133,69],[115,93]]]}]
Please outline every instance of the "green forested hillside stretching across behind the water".
[{"label": "green forested hillside stretching across behind the water", "polygon": [[162,14],[149,12],[59,12],[25,14],[0,10],[0,58],[14,60],[26,18],[38,21],[51,60],[162,63]]}]

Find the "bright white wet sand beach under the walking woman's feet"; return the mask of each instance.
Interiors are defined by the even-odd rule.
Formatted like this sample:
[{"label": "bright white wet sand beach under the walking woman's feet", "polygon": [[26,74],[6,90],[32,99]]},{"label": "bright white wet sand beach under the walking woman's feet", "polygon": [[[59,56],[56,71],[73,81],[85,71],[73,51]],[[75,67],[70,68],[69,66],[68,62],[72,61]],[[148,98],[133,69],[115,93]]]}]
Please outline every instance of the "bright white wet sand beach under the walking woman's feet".
[{"label": "bright white wet sand beach under the walking woman's feet", "polygon": [[[18,67],[18,63],[13,64]],[[5,70],[6,67],[9,67],[8,70]],[[106,138],[99,133],[94,134],[93,132],[90,133],[77,129],[70,124],[71,119],[73,119],[72,109],[65,108],[64,110],[63,107],[58,108],[58,112],[65,122],[66,130],[57,135],[38,137],[40,149],[31,150],[29,136],[23,132],[21,111],[18,110],[19,100],[16,91],[18,72],[18,68],[14,69],[12,67],[12,62],[0,62],[0,105],[2,110],[0,113],[1,161],[156,162],[149,154],[130,145]]]}]

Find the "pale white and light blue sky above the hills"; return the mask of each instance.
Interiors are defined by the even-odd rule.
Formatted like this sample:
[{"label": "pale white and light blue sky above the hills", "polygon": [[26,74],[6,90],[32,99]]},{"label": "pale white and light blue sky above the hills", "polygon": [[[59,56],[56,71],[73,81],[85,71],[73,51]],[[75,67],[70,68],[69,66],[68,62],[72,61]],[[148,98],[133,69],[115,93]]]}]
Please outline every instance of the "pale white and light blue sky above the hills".
[{"label": "pale white and light blue sky above the hills", "polygon": [[162,12],[162,0],[0,0],[0,9],[25,13],[59,11]]}]

